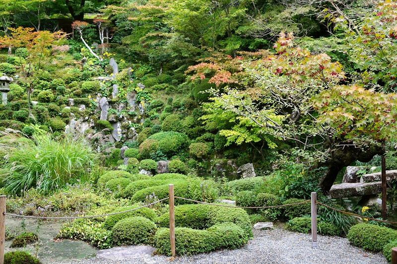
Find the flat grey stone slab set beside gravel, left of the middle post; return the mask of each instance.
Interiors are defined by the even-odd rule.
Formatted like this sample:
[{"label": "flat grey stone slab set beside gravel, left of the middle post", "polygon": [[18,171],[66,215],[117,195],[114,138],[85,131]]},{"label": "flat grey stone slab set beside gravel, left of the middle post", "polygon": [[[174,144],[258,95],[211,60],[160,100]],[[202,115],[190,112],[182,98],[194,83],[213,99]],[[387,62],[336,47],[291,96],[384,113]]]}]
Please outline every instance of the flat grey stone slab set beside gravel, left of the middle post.
[{"label": "flat grey stone slab set beside gravel, left of the middle post", "polygon": [[155,250],[156,248],[150,246],[115,247],[98,251],[96,257],[109,260],[148,258]]}]

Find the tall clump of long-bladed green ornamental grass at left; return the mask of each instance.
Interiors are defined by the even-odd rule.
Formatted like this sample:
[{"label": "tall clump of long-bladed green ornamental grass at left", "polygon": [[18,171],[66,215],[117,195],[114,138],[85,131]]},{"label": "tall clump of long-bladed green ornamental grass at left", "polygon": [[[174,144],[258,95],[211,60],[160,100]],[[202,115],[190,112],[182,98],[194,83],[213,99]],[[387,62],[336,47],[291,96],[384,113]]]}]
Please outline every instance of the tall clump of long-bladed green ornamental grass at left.
[{"label": "tall clump of long-bladed green ornamental grass at left", "polygon": [[9,154],[0,175],[9,194],[32,187],[46,193],[63,188],[66,183],[86,181],[96,157],[82,138],[54,140],[41,136],[15,145],[1,143],[0,148]]}]

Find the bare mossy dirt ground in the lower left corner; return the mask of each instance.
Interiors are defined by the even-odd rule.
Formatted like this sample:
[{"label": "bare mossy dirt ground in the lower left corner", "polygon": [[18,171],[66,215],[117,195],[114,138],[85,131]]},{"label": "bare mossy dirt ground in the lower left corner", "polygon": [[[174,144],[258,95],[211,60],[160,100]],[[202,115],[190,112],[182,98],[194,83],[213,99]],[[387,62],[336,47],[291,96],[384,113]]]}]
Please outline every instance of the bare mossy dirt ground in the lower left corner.
[{"label": "bare mossy dirt ground in the lower left corner", "polygon": [[[32,255],[37,254],[39,260],[44,264],[53,262],[73,261],[78,259],[88,259],[95,256],[98,249],[88,245],[86,242],[78,240],[54,240],[62,226],[63,221],[51,220],[41,221],[38,224],[37,219],[25,219],[25,226],[27,232],[36,232],[38,228],[39,242],[28,245],[25,248],[10,248],[12,239],[5,241],[5,252],[24,250],[30,252]],[[39,227],[38,227],[39,225]],[[6,216],[5,228],[13,234],[21,234],[22,218]]]}]

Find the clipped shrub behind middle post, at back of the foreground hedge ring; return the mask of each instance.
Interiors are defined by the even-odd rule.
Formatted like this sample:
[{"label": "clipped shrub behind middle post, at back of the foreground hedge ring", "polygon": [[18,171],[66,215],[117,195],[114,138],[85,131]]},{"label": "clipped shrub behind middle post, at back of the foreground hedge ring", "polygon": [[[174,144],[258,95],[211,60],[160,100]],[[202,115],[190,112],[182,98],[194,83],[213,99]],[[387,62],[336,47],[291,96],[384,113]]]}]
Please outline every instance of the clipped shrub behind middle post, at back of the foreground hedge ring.
[{"label": "clipped shrub behind middle post, at back of the foreground hedge ring", "polygon": [[[202,204],[177,206],[175,207],[175,226],[205,229],[208,226],[211,210],[211,206]],[[156,223],[161,227],[169,227],[170,213],[160,215]]]}]

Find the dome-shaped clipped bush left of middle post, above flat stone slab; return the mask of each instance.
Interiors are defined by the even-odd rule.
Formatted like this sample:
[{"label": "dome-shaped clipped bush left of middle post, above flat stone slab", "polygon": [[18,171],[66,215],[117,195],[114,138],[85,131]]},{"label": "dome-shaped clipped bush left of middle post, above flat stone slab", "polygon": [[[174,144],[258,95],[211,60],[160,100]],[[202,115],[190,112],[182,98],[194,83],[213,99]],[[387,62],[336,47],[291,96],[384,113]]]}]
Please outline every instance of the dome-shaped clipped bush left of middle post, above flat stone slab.
[{"label": "dome-shaped clipped bush left of middle post, above flat stone slab", "polygon": [[156,224],[142,216],[120,220],[112,228],[112,239],[116,245],[152,244]]}]

